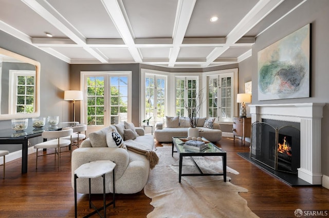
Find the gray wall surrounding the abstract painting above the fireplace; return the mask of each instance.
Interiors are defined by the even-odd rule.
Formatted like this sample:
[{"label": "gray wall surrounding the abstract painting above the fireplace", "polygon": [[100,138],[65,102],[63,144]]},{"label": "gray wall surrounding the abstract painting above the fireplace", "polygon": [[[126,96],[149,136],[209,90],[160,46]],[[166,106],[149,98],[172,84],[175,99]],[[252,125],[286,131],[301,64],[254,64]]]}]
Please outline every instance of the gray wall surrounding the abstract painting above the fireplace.
[{"label": "gray wall surrounding the abstract painting above the fireplace", "polygon": [[[256,38],[252,57],[239,64],[239,85],[252,78],[252,104],[327,103],[323,108],[321,132],[322,173],[329,175],[329,4],[327,0],[307,1]],[[286,100],[258,101],[257,52],[284,36],[312,23],[312,96]],[[247,67],[251,66],[251,69]],[[249,71],[250,70],[250,71]],[[241,89],[239,88],[239,92]]]}]

